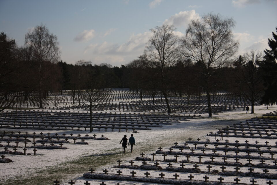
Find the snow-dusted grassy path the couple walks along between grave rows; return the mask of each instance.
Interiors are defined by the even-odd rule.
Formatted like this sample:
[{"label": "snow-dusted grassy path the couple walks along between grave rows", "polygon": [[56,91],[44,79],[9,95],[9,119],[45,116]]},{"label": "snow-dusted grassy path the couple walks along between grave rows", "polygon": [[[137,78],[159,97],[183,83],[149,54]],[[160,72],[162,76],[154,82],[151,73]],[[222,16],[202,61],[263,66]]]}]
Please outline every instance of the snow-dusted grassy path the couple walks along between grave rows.
[{"label": "snow-dusted grassy path the couple walks along between grave rows", "polygon": [[[59,154],[62,158],[51,155],[51,150],[48,150],[50,154],[28,156],[26,159],[29,160],[27,162],[31,164],[30,166],[24,166],[24,164],[23,166],[16,166],[18,164],[16,162],[2,163],[1,171],[4,170],[0,177],[0,184],[49,185],[53,184],[55,179],[58,179],[60,184],[67,184],[68,180],[82,177],[83,173],[89,172],[91,168],[96,170],[111,168],[117,164],[116,161],[118,159],[130,161],[140,156],[141,152],[153,153],[158,147],[167,149],[175,141],[186,141],[189,137],[193,140],[204,138],[207,133],[216,132],[216,129],[212,127],[214,125],[232,125],[273,110],[276,110],[276,106],[270,106],[269,109],[264,106],[257,106],[255,107],[256,114],[245,114],[245,111],[238,110],[214,115],[212,118],[191,119],[190,121],[181,121],[181,123],[173,123],[172,125],[163,125],[161,128],[152,128],[152,130],[139,130],[139,133],[134,133],[136,145],[133,153],[130,153],[130,147],[127,147],[126,153],[122,153],[123,149],[119,145],[121,138],[126,132],[93,131],[93,134],[99,136],[104,134],[110,140],[91,141],[94,143],[87,145],[89,149],[86,150],[82,148],[84,146],[70,144],[69,149],[59,151],[62,152]],[[88,131],[80,131],[80,133],[87,134]],[[128,137],[130,134],[131,132],[127,133]],[[95,143],[100,145],[95,147]],[[72,152],[71,150],[74,151]],[[10,158],[12,159],[12,156]],[[40,162],[36,163],[33,160],[40,160]],[[10,171],[13,171],[13,173],[10,173]]]}]

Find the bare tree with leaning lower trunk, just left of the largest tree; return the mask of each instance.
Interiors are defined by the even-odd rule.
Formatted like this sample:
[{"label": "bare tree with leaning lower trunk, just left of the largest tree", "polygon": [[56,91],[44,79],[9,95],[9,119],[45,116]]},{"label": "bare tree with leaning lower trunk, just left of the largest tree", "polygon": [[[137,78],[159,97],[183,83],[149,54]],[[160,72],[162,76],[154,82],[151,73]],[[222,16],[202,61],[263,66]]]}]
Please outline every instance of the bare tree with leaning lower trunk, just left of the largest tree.
[{"label": "bare tree with leaning lower trunk, just left of the largest tree", "polygon": [[180,58],[179,38],[174,34],[175,28],[172,25],[157,26],[151,29],[152,36],[149,39],[143,58],[150,66],[157,69],[159,74],[158,85],[166,101],[167,112],[171,113],[168,94],[171,90],[168,71]]}]

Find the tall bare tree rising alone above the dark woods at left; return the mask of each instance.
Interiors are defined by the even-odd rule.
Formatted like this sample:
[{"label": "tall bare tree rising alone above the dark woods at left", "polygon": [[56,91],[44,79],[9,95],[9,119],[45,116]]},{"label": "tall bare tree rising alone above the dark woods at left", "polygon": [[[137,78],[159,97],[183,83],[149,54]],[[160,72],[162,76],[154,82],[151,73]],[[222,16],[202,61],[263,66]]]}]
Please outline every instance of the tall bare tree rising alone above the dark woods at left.
[{"label": "tall bare tree rising alone above the dark woods at left", "polygon": [[42,108],[42,91],[44,90],[45,73],[49,70],[47,62],[56,63],[60,57],[59,42],[57,36],[50,34],[45,25],[36,26],[34,30],[25,35],[25,45],[30,47],[33,53],[33,60],[39,71],[39,108]]}]

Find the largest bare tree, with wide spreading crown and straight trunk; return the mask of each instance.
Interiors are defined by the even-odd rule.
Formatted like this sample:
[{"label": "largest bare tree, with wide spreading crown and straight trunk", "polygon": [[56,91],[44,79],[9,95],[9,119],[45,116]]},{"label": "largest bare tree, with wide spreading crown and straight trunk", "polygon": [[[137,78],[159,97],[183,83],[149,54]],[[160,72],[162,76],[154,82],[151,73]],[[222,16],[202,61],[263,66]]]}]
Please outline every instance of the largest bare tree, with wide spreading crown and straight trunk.
[{"label": "largest bare tree, with wide spreading crown and straight trunk", "polygon": [[185,57],[199,62],[202,80],[205,82],[209,117],[212,117],[210,78],[215,69],[228,63],[236,53],[239,43],[233,39],[232,28],[235,21],[223,18],[219,14],[207,14],[201,19],[192,20],[182,39]]}]

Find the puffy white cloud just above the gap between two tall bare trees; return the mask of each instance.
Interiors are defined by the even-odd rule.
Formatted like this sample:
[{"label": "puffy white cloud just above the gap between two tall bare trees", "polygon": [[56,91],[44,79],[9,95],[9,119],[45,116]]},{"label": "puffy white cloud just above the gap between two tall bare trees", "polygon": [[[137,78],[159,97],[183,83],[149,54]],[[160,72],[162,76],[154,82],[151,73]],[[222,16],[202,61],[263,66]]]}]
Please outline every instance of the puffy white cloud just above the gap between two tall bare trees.
[{"label": "puffy white cloud just above the gap between two tall bare trees", "polygon": [[192,19],[196,18],[199,18],[199,14],[197,14],[195,10],[181,11],[166,19],[163,24],[174,25],[175,27],[186,27]]}]

